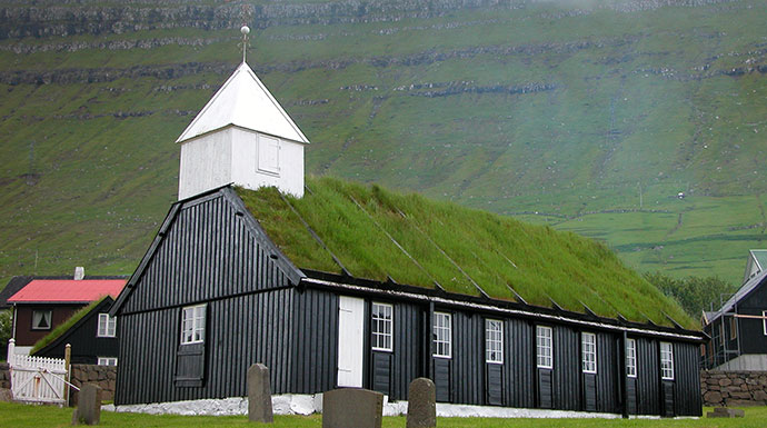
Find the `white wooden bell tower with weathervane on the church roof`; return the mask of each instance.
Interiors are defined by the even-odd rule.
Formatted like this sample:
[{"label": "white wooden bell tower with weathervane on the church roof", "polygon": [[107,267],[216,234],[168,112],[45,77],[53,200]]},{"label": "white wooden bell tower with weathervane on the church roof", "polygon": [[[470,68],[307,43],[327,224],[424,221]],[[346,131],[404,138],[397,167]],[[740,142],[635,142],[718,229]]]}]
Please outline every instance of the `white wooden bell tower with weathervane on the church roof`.
[{"label": "white wooden bell tower with weathervane on the church roof", "polygon": [[181,145],[179,199],[233,182],[275,186],[303,196],[303,145],[309,140],[245,62],[176,142]]}]

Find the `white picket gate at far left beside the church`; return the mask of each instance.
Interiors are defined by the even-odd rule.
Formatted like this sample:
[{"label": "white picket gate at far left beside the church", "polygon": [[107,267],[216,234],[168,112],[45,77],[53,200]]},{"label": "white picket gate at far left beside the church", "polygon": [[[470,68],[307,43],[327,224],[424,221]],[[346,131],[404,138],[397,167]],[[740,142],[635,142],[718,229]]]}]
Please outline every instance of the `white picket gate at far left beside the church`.
[{"label": "white picket gate at far left beside the church", "polygon": [[63,405],[64,387],[69,384],[63,358],[31,357],[14,354],[14,340],[8,344],[11,394],[18,401]]}]

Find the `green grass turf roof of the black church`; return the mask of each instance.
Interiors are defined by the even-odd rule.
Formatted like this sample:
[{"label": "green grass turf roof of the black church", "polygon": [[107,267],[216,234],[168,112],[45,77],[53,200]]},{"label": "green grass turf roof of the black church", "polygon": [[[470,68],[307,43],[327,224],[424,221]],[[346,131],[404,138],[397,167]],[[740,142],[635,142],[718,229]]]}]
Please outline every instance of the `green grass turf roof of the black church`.
[{"label": "green grass turf roof of the black church", "polygon": [[[686,328],[695,321],[605,245],[419,195],[307,178],[303,198],[237,189],[298,268]],[[305,227],[320,237],[327,249]]]}]

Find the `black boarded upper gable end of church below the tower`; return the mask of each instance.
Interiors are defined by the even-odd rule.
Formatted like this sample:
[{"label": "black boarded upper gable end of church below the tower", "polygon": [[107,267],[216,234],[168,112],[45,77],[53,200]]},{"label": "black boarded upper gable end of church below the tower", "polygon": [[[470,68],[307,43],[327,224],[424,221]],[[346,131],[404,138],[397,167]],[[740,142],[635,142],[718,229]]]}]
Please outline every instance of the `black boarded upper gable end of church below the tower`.
[{"label": "black boarded upper gable end of church below the tower", "polygon": [[296,285],[302,273],[241,205],[222,188],[173,206],[118,310],[178,307]]}]

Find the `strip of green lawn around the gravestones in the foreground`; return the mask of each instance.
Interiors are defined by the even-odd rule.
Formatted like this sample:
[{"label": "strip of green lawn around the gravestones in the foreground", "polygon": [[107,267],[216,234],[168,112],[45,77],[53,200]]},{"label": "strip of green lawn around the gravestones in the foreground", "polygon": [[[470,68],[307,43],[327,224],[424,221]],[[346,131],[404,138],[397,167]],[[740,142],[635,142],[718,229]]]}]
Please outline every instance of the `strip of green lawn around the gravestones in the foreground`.
[{"label": "strip of green lawn around the gravestones in the foreground", "polygon": [[[709,411],[705,408],[704,411]],[[72,409],[58,407],[27,406],[0,402],[0,426],[3,427],[66,427],[70,425]],[[273,427],[320,427],[322,419],[312,416],[277,416]],[[233,427],[255,426],[245,416],[155,416],[135,414],[101,412],[101,425],[106,427],[178,427],[205,426]],[[680,420],[622,420],[622,419],[495,419],[495,418],[439,418],[438,427],[764,427],[767,425],[767,407],[746,409],[743,419],[680,419]],[[405,417],[384,418],[384,427],[405,427]]]}]

